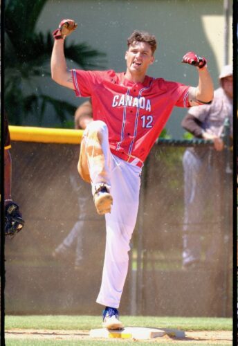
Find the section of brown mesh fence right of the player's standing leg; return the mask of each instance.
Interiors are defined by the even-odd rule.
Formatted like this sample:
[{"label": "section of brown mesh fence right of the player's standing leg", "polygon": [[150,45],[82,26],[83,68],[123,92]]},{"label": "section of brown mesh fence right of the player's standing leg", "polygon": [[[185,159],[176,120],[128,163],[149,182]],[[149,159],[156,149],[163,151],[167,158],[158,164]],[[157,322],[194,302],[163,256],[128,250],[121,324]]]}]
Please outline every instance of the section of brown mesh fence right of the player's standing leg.
[{"label": "section of brown mesh fence right of the player's standing leg", "polygon": [[158,143],[138,218],[136,313],[232,316],[232,163],[228,148]]}]

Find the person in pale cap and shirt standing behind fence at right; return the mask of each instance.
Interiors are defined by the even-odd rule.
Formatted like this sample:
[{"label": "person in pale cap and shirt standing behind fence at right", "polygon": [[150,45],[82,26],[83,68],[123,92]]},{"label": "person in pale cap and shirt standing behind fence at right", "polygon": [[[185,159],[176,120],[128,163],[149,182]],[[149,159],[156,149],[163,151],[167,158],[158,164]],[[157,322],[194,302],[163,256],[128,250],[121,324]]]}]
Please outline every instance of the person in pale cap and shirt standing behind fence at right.
[{"label": "person in pale cap and shirt standing behind fence at right", "polygon": [[[217,224],[221,223],[221,196],[223,160],[222,134],[226,118],[230,120],[230,135],[233,132],[233,74],[232,66],[226,65],[219,74],[220,87],[214,91],[212,104],[189,109],[182,126],[196,138],[212,140],[214,147],[185,150],[184,170],[184,225],[183,225],[183,268],[196,269],[201,262],[201,221],[207,210],[212,224],[213,235],[205,252],[205,266],[214,266],[219,261],[221,236]],[[209,191],[209,194],[208,194]],[[212,206],[209,202],[212,198]],[[211,203],[210,203],[211,204]],[[212,215],[212,213],[214,215]]]}]

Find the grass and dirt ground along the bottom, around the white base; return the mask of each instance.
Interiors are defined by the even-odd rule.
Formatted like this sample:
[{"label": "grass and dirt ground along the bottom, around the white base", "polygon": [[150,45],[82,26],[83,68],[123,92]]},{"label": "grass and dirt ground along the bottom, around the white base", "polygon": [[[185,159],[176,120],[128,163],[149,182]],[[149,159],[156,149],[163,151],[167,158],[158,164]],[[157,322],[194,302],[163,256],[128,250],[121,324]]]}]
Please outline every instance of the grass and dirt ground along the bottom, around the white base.
[{"label": "grass and dirt ground along the bottom, around the white base", "polygon": [[[177,329],[185,331],[183,340],[177,338],[154,338],[136,340],[139,345],[156,343],[156,345],[232,345],[231,318],[178,318],[178,317],[143,317],[121,316],[127,327],[152,327]],[[132,345],[131,339],[95,340],[89,337],[89,331],[101,328],[99,316],[6,316],[6,346],[39,345]],[[211,338],[208,334],[212,332]],[[226,336],[224,336],[226,332]],[[194,338],[192,338],[194,333]],[[204,335],[200,338],[197,335]],[[189,336],[187,336],[189,335]],[[227,337],[229,336],[229,337]]]}]

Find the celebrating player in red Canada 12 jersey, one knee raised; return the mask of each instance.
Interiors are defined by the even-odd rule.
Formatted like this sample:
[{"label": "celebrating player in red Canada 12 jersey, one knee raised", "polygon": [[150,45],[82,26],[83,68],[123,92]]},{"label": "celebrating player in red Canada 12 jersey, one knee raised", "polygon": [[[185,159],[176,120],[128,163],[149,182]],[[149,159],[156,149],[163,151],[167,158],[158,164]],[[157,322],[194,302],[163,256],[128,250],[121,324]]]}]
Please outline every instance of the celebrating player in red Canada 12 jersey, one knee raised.
[{"label": "celebrating player in red Canada 12 jersey, one knee raised", "polygon": [[196,66],[196,87],[152,78],[156,37],[135,30],[127,39],[127,70],[68,71],[64,39],[77,24],[64,19],[53,32],[51,75],[78,97],[91,97],[93,122],[84,130],[78,171],[91,183],[95,208],[106,219],[106,249],[97,302],[105,306],[102,326],[121,329],[118,307],[127,276],[129,242],[138,212],[143,162],[174,106],[208,104],[213,85],[204,57],[189,52],[183,62]]}]

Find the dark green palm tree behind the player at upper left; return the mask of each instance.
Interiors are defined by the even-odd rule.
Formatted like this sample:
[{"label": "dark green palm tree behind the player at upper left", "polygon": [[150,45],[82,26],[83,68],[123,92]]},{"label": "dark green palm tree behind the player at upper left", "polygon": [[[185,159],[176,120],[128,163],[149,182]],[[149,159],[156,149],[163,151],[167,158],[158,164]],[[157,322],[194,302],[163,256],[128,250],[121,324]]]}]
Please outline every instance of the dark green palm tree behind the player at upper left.
[{"label": "dark green palm tree behind the player at upper left", "polygon": [[[41,87],[42,77],[50,76],[49,61],[53,48],[51,32],[44,34],[35,30],[46,2],[6,0],[4,100],[11,125],[21,125],[29,114],[37,119],[38,125],[42,125],[47,104],[53,106],[62,126],[67,115],[75,111],[73,104],[47,95]],[[65,45],[65,55],[81,69],[102,67],[105,56],[85,43]]]}]

